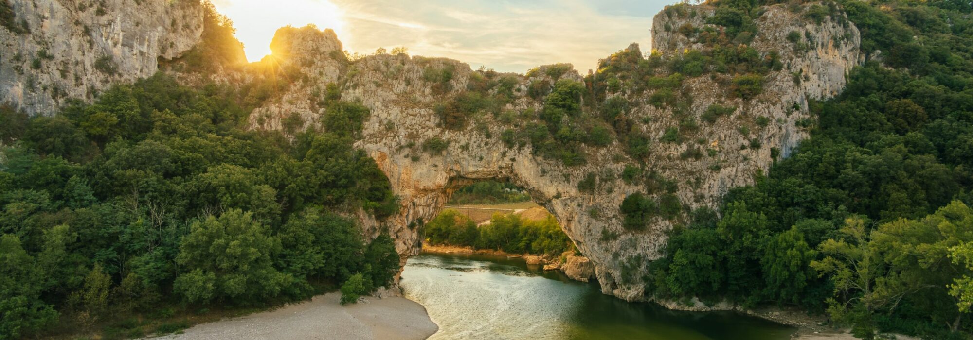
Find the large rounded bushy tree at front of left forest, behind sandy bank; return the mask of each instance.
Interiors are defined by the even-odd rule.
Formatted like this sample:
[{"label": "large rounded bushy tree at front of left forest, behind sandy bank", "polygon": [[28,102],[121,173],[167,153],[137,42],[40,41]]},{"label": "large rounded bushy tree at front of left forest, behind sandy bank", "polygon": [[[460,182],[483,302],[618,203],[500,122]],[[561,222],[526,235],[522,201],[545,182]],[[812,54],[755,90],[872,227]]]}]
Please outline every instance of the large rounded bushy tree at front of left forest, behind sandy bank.
[{"label": "large rounded bushy tree at front of left forest, behind sandy bank", "polygon": [[189,302],[234,299],[252,304],[277,296],[293,284],[290,275],[273,268],[280,240],[253,214],[231,210],[219,218],[196,221],[183,238],[176,261],[185,270],[173,290]]}]

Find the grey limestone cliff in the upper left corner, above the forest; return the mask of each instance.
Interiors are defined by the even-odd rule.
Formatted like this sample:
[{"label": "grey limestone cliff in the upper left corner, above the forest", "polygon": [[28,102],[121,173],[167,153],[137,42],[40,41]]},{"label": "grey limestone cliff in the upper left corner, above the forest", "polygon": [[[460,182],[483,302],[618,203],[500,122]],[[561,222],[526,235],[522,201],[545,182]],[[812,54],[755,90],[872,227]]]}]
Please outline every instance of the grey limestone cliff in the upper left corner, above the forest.
[{"label": "grey limestone cliff in the upper left corner, above the forest", "polygon": [[0,104],[31,115],[152,76],[160,57],[193,49],[203,30],[198,0],[4,2],[17,17],[0,26]]}]

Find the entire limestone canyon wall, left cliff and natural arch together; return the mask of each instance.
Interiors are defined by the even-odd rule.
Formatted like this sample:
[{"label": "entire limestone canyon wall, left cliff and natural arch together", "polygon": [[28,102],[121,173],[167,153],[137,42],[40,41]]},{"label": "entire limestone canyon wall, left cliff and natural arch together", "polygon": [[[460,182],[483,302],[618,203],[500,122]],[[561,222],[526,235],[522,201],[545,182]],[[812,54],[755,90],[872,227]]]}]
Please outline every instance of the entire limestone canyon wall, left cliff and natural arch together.
[{"label": "entire limestone canyon wall, left cliff and natural arch together", "polygon": [[[53,114],[67,98],[90,100],[113,83],[151,76],[159,70],[160,58],[190,51],[203,34],[204,8],[193,0],[10,4],[17,17],[0,27],[0,101],[35,115]],[[453,190],[499,179],[526,188],[554,214],[590,258],[604,292],[639,300],[647,298],[646,266],[663,255],[667,231],[686,223],[688,211],[718,208],[728,189],[752,184],[777,157],[790,154],[808,137],[809,100],[840,92],[847,72],[859,62],[860,37],[854,25],[841,14],[810,19],[803,14],[808,6],[770,6],[756,19],[758,33],[749,46],[762,57],[775,53],[779,65],[763,76],[763,90],[752,97],[733,93],[733,75],[711,71],[682,78],[677,92],[688,100],[680,108],[656,105],[654,95],[661,89],[610,89],[607,97],[624,98],[630,105],[626,115],[631,133],[652,141],[642,159],[633,159],[616,139],[607,146],[580,147],[585,162],[568,166],[536,153],[529,142],[505,140],[523,131],[524,122],[538,119],[543,93],[558,81],[585,82],[562,65],[520,75],[474,71],[456,60],[405,53],[348,60],[333,31],[309,26],[278,30],[266,64],[220,70],[201,79],[242,84],[273,77],[280,85],[250,115],[253,129],[286,130],[298,122],[300,129],[326,130],[321,119],[335,110],[325,103],[331,89],[343,101],[367,106],[371,114],[355,146],[377,161],[400,197],[401,209],[382,221],[364,213],[359,220],[370,236],[390,233],[403,261],[419,252],[422,224],[439,214]],[[679,5],[657,15],[651,27],[656,57],[667,61],[689,50],[710,49],[698,36],[684,32],[706,27],[721,32],[723,28],[705,23],[714,12],[706,5]],[[632,29],[650,34],[648,27]],[[806,42],[801,49],[793,42],[795,34]],[[641,59],[637,45],[624,52]],[[198,75],[177,76],[200,80]],[[462,126],[446,126],[444,105],[472,91],[509,91],[510,99],[494,113],[472,113]],[[714,104],[735,109],[718,119],[702,119]],[[582,106],[582,115],[597,115],[597,102]],[[683,130],[687,117],[699,123]],[[682,141],[663,142],[667,131],[677,127]],[[430,141],[445,146],[423,148]],[[644,178],[624,180],[627,166],[641,169]],[[586,178],[595,179],[593,187],[579,189]],[[651,188],[659,179],[666,180],[670,192]],[[636,192],[653,199],[676,197],[681,213],[655,216],[644,229],[627,229],[620,205]]]}]

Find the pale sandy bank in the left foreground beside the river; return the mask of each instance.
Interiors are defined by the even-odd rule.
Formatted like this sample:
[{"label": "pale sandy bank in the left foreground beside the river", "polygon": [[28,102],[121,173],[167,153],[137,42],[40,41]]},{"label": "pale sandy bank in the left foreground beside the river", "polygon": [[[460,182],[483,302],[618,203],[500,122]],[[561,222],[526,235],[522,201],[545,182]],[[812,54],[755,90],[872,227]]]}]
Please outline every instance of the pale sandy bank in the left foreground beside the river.
[{"label": "pale sandy bank in the left foreground beside the river", "polygon": [[315,296],[310,301],[274,311],[216,323],[203,323],[154,339],[425,339],[439,327],[422,305],[404,297],[368,303],[339,304],[341,293]]}]

